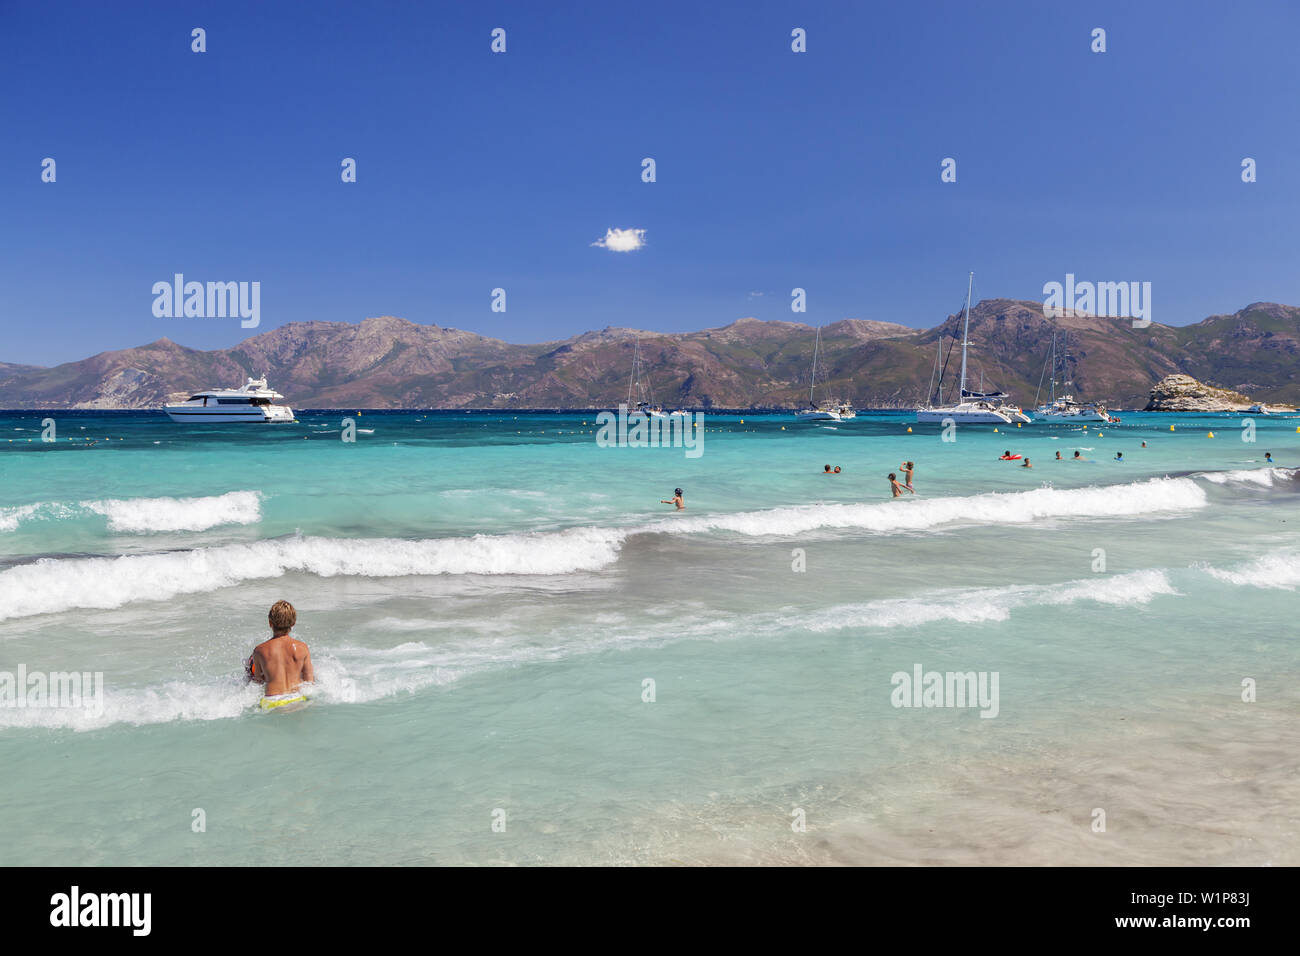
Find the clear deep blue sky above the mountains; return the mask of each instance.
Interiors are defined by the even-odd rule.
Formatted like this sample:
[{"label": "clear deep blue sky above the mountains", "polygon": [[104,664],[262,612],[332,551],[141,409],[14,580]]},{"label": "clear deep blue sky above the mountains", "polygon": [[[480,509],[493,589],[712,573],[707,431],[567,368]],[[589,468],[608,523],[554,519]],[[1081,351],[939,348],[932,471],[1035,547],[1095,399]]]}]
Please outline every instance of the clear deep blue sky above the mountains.
[{"label": "clear deep blue sky above the mountains", "polygon": [[[1297,9],[0,0],[0,362],[373,315],[928,326],[968,271],[1149,281],[1169,324],[1300,303]],[[261,325],[155,317],[174,272],[259,281]]]}]

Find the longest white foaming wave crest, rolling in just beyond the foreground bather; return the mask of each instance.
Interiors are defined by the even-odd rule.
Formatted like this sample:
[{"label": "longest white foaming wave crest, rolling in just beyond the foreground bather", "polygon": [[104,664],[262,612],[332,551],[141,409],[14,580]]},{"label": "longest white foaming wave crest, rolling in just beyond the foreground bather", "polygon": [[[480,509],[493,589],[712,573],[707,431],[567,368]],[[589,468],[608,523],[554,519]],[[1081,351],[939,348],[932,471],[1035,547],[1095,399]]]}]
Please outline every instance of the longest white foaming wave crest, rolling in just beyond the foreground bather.
[{"label": "longest white foaming wave crest, rolling in just beyond the foreground bather", "polygon": [[[155,499],[156,501],[156,499]],[[121,607],[228,588],[291,571],[334,578],[407,575],[563,575],[618,561],[636,533],[736,532],[798,535],[819,528],[926,531],[948,524],[1023,524],[1063,516],[1134,516],[1202,507],[1190,479],[1153,479],[1108,488],[980,494],[967,498],[810,505],[731,515],[670,518],[633,528],[429,540],[295,537],[118,558],[40,559],[0,572],[0,620],[72,607]],[[161,514],[155,514],[160,523]]]}]

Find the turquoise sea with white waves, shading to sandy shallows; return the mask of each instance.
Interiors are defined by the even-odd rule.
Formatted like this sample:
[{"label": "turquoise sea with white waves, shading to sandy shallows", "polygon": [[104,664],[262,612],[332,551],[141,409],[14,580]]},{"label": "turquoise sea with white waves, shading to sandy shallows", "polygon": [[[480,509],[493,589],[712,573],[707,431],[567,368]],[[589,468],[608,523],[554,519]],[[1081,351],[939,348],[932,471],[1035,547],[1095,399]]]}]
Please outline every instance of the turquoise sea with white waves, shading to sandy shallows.
[{"label": "turquoise sea with white waves, shading to sandy shallows", "polygon": [[0,412],[0,864],[1300,864],[1300,416],[594,415]]}]

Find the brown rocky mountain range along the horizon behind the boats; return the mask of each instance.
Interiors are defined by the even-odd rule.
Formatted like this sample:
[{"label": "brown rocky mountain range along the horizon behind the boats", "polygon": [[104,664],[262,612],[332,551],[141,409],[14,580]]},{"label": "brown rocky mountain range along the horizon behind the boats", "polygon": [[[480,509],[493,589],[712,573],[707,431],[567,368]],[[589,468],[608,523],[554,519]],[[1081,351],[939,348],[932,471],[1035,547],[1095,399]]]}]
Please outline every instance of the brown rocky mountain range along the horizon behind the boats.
[{"label": "brown rocky mountain range along the horizon behind the boats", "polygon": [[[946,363],[950,397],[961,332],[961,312],[931,329],[824,325],[816,395],[906,407],[932,394],[936,365]],[[701,332],[604,328],[514,345],[393,316],[291,323],[213,351],[160,338],[52,368],[0,363],[0,407],[148,408],[265,375],[295,408],[606,408],[628,397],[634,341],[666,407],[794,407],[809,399],[815,333],[803,323],[740,319]],[[1135,329],[1128,319],[1045,317],[1039,302],[985,299],[971,308],[967,388],[1001,388],[1026,406],[1045,399],[1053,334],[1057,392],[1082,401],[1141,407],[1171,373],[1254,401],[1300,401],[1300,308],[1269,302],[1195,325]]]}]

